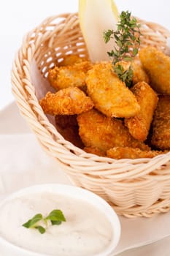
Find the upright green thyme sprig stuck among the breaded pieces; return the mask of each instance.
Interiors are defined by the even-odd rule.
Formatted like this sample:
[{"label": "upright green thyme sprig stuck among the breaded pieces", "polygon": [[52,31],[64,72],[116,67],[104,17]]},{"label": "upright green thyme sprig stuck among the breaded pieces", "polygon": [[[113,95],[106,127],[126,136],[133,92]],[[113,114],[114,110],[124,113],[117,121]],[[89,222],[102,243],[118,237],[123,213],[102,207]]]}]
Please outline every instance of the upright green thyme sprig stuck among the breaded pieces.
[{"label": "upright green thyme sprig stuck among the breaded pieces", "polygon": [[124,69],[121,61],[133,61],[137,55],[140,45],[140,24],[136,18],[131,18],[131,12],[121,12],[120,21],[117,23],[117,31],[104,31],[104,42],[109,42],[110,39],[115,39],[117,47],[108,52],[112,59],[112,66],[120,80],[125,82],[126,86],[131,87],[133,69],[130,66]]}]

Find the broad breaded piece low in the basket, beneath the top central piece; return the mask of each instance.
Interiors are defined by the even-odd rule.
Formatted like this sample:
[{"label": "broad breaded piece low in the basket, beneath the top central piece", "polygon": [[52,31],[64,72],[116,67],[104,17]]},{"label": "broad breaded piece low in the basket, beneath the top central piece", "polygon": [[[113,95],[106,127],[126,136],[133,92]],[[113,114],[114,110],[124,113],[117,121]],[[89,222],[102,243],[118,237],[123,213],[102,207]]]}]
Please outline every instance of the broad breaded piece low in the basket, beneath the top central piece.
[{"label": "broad breaded piece low in the basket, beneath the top central piece", "polygon": [[90,110],[77,116],[79,134],[85,147],[96,147],[107,151],[115,146],[132,146],[148,149],[147,145],[135,140],[122,120],[109,118],[97,110]]}]

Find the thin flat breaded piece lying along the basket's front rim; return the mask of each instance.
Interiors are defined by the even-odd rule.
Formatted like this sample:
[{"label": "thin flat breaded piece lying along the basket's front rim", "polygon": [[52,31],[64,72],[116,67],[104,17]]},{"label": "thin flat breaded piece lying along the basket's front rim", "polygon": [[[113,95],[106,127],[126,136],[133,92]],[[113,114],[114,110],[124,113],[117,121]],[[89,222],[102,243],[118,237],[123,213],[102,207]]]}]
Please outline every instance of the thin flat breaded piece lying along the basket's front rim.
[{"label": "thin flat breaded piece lying along the basket's front rim", "polygon": [[140,148],[131,147],[116,147],[110,148],[107,151],[107,157],[114,159],[136,159],[136,158],[152,158],[158,156],[158,154],[163,154],[162,151],[142,151]]}]

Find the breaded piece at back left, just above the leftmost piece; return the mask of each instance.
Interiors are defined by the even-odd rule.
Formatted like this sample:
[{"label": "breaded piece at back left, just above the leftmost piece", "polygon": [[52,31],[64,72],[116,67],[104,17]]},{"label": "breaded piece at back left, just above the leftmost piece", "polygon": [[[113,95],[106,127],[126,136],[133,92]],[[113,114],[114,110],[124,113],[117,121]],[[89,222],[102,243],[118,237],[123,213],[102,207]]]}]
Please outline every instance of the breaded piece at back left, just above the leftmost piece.
[{"label": "breaded piece at back left, just above the leftmost piece", "polygon": [[54,67],[49,70],[48,80],[55,89],[63,89],[71,86],[85,86],[88,70],[92,67],[90,61],[82,61],[72,66]]}]

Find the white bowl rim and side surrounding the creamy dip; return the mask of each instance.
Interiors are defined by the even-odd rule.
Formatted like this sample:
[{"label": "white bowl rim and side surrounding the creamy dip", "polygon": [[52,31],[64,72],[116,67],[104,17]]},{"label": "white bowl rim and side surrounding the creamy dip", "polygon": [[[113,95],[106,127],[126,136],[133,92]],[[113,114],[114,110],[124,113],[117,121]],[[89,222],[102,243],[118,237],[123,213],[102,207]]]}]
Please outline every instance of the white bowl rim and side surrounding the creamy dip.
[{"label": "white bowl rim and side surrounding the creamy dip", "polygon": [[[9,195],[9,197],[4,199],[0,203],[0,208],[3,206],[4,203],[7,203],[15,199],[15,197],[26,196],[26,195],[34,194],[35,192],[53,192],[55,194],[69,196],[69,197],[72,197],[73,199],[75,198],[77,200],[82,200],[82,202],[84,200],[86,201],[86,203],[90,203],[90,205],[93,205],[96,208],[98,208],[98,210],[101,211],[101,213],[104,214],[105,217],[109,220],[114,236],[112,236],[112,241],[109,243],[109,246],[107,246],[107,248],[104,249],[103,252],[94,256],[112,255],[112,252],[114,251],[115,247],[118,244],[118,241],[120,240],[120,221],[117,217],[117,214],[115,214],[115,211],[112,209],[111,206],[109,206],[109,204],[104,199],[102,199],[101,197],[98,197],[98,195],[95,195],[92,192],[89,192],[88,190],[81,189],[80,187],[74,187],[74,186],[68,186],[68,185],[62,185],[62,184],[37,185],[34,187],[21,189],[20,191],[15,192],[12,195]],[[9,255],[49,256],[46,254],[40,254],[37,252],[28,251],[28,249],[22,249],[20,246],[11,244],[9,241],[1,237],[1,235],[0,235],[0,251],[1,251],[1,256],[9,256]]]}]

